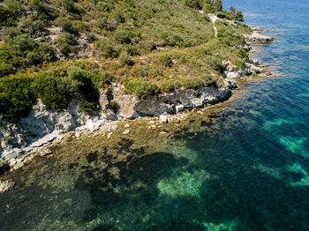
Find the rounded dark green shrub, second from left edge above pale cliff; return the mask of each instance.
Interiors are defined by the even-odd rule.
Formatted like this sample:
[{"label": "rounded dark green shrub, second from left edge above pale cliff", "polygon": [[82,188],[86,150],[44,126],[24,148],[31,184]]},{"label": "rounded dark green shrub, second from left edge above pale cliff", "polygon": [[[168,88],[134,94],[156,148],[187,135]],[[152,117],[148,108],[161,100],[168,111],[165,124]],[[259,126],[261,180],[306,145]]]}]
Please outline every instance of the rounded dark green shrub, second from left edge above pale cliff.
[{"label": "rounded dark green shrub, second from left edge above pale cliff", "polygon": [[35,77],[34,89],[47,109],[60,110],[67,107],[68,92],[61,78],[42,73]]}]

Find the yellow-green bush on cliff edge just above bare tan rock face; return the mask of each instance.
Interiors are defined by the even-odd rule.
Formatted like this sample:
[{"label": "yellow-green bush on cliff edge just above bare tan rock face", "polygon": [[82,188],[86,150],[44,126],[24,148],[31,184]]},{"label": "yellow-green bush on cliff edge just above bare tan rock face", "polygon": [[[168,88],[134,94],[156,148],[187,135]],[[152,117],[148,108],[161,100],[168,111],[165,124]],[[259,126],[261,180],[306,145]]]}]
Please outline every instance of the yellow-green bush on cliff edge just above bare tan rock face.
[{"label": "yellow-green bush on cliff edge just above bare tan rock face", "polygon": [[144,80],[130,80],[124,86],[130,93],[135,94],[141,99],[159,92],[158,86]]}]

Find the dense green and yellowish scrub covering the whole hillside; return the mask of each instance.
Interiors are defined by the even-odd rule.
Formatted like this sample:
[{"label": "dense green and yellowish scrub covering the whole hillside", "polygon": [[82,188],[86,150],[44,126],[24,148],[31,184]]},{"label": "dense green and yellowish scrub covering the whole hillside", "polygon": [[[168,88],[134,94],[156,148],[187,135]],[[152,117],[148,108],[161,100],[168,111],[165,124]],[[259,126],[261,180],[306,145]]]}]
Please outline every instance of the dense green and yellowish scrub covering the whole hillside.
[{"label": "dense green and yellowish scrub covering the whole hillside", "polygon": [[218,85],[222,60],[244,65],[250,29],[222,20],[215,38],[209,12],[242,20],[220,0],[5,0],[0,114],[15,123],[38,98],[55,110],[77,98],[94,113],[98,89],[112,82],[140,98]]}]

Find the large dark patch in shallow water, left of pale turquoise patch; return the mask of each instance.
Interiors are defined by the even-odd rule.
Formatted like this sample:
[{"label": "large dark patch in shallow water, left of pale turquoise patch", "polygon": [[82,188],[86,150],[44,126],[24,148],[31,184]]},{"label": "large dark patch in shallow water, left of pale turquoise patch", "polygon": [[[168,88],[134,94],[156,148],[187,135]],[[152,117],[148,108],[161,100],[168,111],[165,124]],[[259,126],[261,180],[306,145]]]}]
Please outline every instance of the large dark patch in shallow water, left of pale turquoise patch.
[{"label": "large dark patch in shallow water, left of pale turquoise patch", "polygon": [[[130,139],[123,139],[118,144],[117,153],[126,155],[121,161],[116,161],[117,156],[107,150],[101,158],[99,153],[87,155],[94,166],[82,167],[75,183],[75,189],[87,191],[91,198],[91,206],[83,213],[81,222],[94,220],[102,212],[111,212],[128,204],[153,205],[159,194],[157,181],[170,175],[173,168],[187,163],[185,158],[176,159],[172,153],[147,154],[145,148],[134,149],[132,144]],[[108,168],[100,168],[102,163]]]}]

